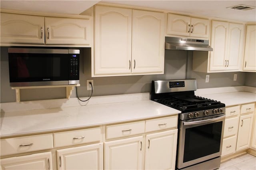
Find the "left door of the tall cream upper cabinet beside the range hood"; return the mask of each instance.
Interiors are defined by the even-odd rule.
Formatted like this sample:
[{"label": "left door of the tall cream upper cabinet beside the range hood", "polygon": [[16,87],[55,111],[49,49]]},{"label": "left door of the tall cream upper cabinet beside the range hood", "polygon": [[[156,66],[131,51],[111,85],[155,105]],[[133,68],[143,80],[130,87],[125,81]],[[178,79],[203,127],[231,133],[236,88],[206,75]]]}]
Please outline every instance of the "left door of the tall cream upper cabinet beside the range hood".
[{"label": "left door of the tall cream upper cabinet beside the range hood", "polygon": [[94,42],[94,75],[129,75],[132,62],[132,10],[96,6]]}]

